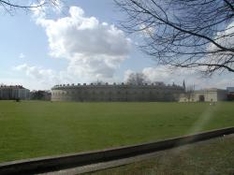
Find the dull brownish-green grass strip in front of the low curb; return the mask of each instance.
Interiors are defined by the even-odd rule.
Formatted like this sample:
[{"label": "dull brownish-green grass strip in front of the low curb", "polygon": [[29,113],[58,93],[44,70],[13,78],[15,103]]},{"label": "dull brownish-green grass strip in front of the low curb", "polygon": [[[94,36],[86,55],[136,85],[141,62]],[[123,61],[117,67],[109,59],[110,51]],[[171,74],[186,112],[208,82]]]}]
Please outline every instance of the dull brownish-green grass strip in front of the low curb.
[{"label": "dull brownish-green grass strip in front of the low curb", "polygon": [[232,134],[160,151],[146,160],[86,175],[233,175],[233,144]]}]

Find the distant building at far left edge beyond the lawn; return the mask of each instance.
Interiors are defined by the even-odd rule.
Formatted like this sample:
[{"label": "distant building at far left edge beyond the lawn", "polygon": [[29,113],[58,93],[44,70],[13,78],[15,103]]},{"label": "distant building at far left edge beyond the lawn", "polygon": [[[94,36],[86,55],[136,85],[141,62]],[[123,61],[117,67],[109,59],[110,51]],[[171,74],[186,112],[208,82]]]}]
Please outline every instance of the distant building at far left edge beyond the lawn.
[{"label": "distant building at far left edge beyond the lawn", "polygon": [[23,86],[0,86],[0,100],[28,100],[30,91]]}]

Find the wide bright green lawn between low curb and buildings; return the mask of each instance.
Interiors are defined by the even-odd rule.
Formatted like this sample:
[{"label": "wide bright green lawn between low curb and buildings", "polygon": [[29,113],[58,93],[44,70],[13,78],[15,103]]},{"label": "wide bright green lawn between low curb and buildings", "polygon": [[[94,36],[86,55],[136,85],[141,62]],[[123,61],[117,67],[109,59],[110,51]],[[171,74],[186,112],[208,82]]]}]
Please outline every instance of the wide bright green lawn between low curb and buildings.
[{"label": "wide bright green lawn between low curb and buildings", "polygon": [[234,125],[234,103],[0,101],[0,162],[104,149]]}]

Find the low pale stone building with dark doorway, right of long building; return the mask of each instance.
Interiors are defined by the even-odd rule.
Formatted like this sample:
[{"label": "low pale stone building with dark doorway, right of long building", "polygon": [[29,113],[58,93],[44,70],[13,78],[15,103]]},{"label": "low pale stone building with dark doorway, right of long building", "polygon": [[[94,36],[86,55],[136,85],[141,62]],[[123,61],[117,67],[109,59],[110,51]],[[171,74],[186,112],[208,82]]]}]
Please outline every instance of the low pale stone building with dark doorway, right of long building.
[{"label": "low pale stone building with dark doorway, right of long building", "polygon": [[227,100],[227,90],[224,89],[203,89],[192,92],[191,94],[182,94],[180,102],[217,102]]}]

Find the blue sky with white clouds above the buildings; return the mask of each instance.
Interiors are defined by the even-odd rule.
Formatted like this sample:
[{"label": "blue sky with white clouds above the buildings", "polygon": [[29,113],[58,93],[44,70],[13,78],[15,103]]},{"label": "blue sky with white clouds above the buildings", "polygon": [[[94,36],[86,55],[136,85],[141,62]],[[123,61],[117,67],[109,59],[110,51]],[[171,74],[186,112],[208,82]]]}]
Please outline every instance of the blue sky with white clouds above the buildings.
[{"label": "blue sky with white clouds above the buildings", "polygon": [[201,88],[234,86],[234,74],[204,77],[187,69],[157,65],[124,33],[124,15],[112,0],[70,0],[59,7],[0,8],[0,84],[50,90],[57,84],[125,82],[143,73],[151,82]]}]

